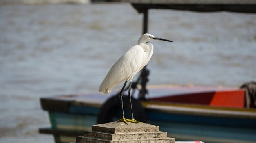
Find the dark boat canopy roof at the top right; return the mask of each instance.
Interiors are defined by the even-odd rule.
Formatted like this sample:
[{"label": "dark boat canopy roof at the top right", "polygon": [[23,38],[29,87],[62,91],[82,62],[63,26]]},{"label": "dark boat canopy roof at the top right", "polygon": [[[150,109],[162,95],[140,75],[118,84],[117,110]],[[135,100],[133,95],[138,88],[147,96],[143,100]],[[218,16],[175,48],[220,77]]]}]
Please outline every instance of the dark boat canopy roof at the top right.
[{"label": "dark boat canopy roof at the top right", "polygon": [[122,0],[122,2],[130,2],[139,13],[143,13],[146,9],[256,13],[256,0]]}]

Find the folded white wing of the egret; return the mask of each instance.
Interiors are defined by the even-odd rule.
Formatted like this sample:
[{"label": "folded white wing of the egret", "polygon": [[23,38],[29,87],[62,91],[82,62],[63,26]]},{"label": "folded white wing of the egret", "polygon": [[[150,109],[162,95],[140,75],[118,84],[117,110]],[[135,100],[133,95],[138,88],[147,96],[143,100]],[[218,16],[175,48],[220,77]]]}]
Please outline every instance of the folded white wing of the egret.
[{"label": "folded white wing of the egret", "polygon": [[111,67],[99,87],[99,92],[110,93],[112,88],[124,80],[129,80],[141,70],[145,52],[139,45],[133,46]]}]

